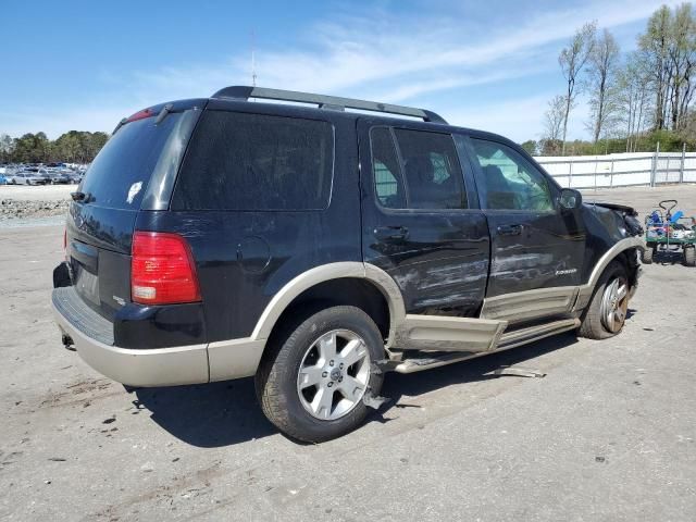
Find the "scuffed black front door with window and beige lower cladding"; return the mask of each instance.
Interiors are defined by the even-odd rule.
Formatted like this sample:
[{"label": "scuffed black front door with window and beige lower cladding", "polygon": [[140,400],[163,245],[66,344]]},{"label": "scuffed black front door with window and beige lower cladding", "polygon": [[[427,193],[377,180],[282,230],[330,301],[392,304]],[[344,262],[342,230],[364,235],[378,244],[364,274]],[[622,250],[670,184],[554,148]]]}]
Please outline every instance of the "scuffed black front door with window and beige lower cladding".
[{"label": "scuffed black front door with window and beige lower cladding", "polygon": [[483,315],[567,315],[585,252],[580,211],[560,209],[556,183],[509,145],[471,137],[469,151],[493,241]]}]

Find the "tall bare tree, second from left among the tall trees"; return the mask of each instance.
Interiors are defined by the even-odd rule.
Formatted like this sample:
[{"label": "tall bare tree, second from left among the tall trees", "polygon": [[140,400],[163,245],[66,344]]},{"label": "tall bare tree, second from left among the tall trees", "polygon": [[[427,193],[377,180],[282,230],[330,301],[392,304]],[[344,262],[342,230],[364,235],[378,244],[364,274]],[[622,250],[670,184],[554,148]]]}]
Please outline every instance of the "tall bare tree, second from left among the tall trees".
[{"label": "tall bare tree, second from left among the tall trees", "polygon": [[592,120],[587,127],[593,134],[595,144],[602,130],[607,130],[616,122],[617,116],[617,70],[620,51],[608,29],[604,29],[595,40],[587,65],[587,88],[589,90],[589,110]]}]

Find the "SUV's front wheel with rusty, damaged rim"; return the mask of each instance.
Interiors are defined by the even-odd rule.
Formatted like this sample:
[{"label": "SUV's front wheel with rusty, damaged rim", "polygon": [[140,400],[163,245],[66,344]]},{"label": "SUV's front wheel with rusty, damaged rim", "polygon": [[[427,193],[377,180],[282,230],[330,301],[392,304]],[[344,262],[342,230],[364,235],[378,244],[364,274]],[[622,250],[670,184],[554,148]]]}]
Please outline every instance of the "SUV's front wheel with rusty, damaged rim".
[{"label": "SUV's front wheel with rusty, damaged rim", "polygon": [[577,331],[581,337],[607,339],[623,328],[629,308],[626,269],[612,261],[601,274]]}]

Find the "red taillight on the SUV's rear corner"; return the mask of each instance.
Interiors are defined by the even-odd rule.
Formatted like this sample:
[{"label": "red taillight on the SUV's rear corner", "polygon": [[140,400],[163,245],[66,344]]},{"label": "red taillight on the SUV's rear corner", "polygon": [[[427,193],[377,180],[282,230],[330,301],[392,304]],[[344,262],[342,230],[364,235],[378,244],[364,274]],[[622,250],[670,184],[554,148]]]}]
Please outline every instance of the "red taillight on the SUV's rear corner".
[{"label": "red taillight on the SUV's rear corner", "polygon": [[133,235],[130,297],[142,304],[200,301],[194,257],[182,236],[161,232]]}]

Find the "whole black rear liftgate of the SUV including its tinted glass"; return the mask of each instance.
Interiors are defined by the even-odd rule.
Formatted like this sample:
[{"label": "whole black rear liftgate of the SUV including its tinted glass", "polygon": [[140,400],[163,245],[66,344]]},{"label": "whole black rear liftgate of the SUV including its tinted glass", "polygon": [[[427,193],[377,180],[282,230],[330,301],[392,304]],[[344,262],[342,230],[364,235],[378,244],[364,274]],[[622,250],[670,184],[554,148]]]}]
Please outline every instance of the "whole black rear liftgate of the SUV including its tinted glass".
[{"label": "whole black rear liftgate of the SUV including its tinted glass", "polygon": [[130,248],[138,211],[165,210],[206,100],[124,120],[89,166],[66,222],[66,261],[82,299],[109,320],[130,302]]}]

